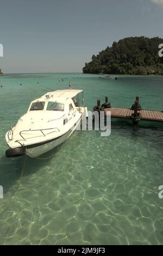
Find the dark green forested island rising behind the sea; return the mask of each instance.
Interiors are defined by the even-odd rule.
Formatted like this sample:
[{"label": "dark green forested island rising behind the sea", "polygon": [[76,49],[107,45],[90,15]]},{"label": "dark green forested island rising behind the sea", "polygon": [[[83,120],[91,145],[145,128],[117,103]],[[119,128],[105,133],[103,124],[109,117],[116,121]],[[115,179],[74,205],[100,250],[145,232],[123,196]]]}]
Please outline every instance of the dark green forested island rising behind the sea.
[{"label": "dark green forested island rising behind the sea", "polygon": [[87,74],[163,75],[163,57],[159,57],[159,37],[135,36],[113,42],[111,47],[93,55],[85,63]]}]

